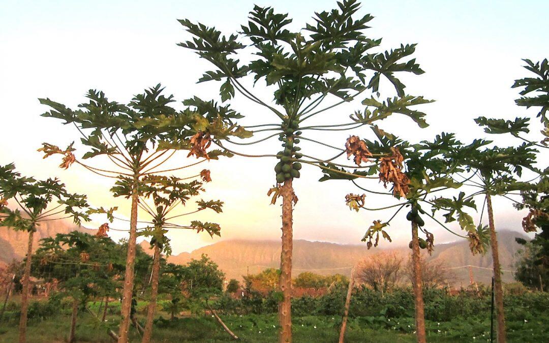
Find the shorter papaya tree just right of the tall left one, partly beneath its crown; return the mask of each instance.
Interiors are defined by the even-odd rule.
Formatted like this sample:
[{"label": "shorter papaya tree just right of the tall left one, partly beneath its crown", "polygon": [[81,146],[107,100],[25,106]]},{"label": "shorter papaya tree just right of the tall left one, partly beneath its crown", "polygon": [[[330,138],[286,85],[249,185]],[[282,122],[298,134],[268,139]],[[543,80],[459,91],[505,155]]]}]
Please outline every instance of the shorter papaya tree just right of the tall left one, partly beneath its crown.
[{"label": "shorter papaya tree just right of the tall left one, partly beneath its crown", "polygon": [[[186,182],[191,178],[201,178],[202,182],[193,180]],[[150,278],[150,300],[147,310],[147,320],[143,332],[143,342],[150,342],[153,331],[153,319],[156,310],[156,297],[158,295],[158,284],[160,274],[161,254],[170,255],[170,240],[166,237],[169,229],[191,229],[197,232],[208,232],[210,236],[221,235],[220,226],[216,223],[191,221],[187,225],[173,222],[176,218],[192,215],[206,209],[211,209],[216,213],[222,212],[222,201],[219,200],[198,200],[197,208],[186,212],[177,213],[178,208],[186,207],[189,199],[199,195],[204,191],[203,182],[210,182],[210,171],[202,170],[198,175],[179,178],[176,176],[166,177],[158,175],[147,175],[141,179],[139,188],[142,190],[142,196],[139,196],[138,205],[150,216],[150,221],[138,221],[146,224],[148,227],[142,230],[138,235],[151,237],[150,244],[154,249],[153,269]],[[128,196],[131,194],[131,179],[118,181],[113,188],[115,196]],[[149,201],[147,201],[149,200]],[[152,204],[150,201],[152,200]],[[175,211],[175,212],[173,212]]]}]

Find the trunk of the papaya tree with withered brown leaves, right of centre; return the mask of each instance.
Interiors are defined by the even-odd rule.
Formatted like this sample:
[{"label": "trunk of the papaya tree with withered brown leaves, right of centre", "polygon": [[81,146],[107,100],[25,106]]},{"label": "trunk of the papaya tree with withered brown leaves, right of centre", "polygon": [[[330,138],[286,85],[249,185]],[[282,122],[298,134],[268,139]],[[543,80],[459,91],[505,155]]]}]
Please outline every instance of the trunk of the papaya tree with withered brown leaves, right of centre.
[{"label": "trunk of the papaya tree with withered brown leaves, right of centre", "polygon": [[412,222],[412,267],[413,267],[413,294],[416,308],[416,334],[419,343],[425,343],[425,313],[423,303],[423,283],[421,276],[421,260],[419,259],[419,239],[417,224]]}]

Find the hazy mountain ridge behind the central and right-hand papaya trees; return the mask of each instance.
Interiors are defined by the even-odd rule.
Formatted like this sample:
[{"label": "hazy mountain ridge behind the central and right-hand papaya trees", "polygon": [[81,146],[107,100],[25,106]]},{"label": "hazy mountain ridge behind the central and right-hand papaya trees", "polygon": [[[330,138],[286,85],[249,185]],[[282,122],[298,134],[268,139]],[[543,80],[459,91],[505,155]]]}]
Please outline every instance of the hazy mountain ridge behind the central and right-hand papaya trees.
[{"label": "hazy mountain ridge behind the central and right-hand papaya trees", "polygon": [[[528,239],[524,234],[512,231],[501,231],[498,235],[500,262],[502,269],[514,270],[514,255],[520,249],[515,237]],[[406,248],[372,248],[365,245],[341,245],[334,243],[294,240],[293,275],[310,271],[318,274],[349,275],[352,266],[357,261],[382,251],[394,251],[407,257],[410,249]],[[220,269],[226,273],[227,279],[242,279],[247,273],[255,274],[265,268],[278,268],[280,265],[281,245],[279,241],[226,240],[204,246],[180,255],[170,256],[169,262],[184,264],[191,258],[198,259],[202,254],[208,255]],[[435,244],[433,256],[429,260],[444,261],[448,268],[472,265],[473,278],[477,282],[488,284],[491,279],[492,256],[488,250],[486,255],[473,256],[467,240],[459,240],[447,244]],[[487,268],[487,269],[483,269]],[[455,285],[464,286],[469,283],[469,268],[452,269],[456,275]],[[512,282],[512,273],[503,273],[505,282]]]}]

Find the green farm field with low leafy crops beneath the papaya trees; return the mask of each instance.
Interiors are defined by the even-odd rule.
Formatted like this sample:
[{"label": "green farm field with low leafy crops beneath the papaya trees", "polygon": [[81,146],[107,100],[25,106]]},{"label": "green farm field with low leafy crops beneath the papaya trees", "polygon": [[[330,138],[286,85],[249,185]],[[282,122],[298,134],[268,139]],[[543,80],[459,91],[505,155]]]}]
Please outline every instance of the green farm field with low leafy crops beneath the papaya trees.
[{"label": "green farm field with low leafy crops beneath the papaya trees", "polygon": [[[296,342],[335,342],[339,337],[343,308],[343,292],[332,296],[312,299],[302,297],[294,299],[293,307],[296,316],[293,318],[293,333]],[[337,298],[340,300],[337,300]],[[272,303],[266,297],[255,311],[262,314],[224,314],[254,311],[245,307],[243,302],[233,302],[233,306],[223,305],[219,300],[214,303],[223,322],[244,342],[276,342],[278,318]],[[357,291],[355,304],[351,307],[345,340],[347,342],[413,342],[414,335],[413,309],[407,307],[412,296],[405,290],[395,291],[381,297],[372,291]],[[169,301],[160,301],[165,306]],[[400,306],[399,304],[404,305]],[[146,302],[137,303],[136,318],[144,320]],[[234,305],[238,306],[235,307]],[[543,342],[549,339],[549,294],[524,293],[506,295],[506,318],[508,341],[510,342]],[[10,306],[16,307],[16,303]],[[90,302],[89,311],[100,313],[99,302]],[[9,308],[9,307],[8,307]],[[378,309],[381,309],[378,311]],[[490,300],[474,294],[445,296],[440,291],[428,291],[426,294],[426,331],[432,342],[470,342],[489,341],[490,337]],[[28,328],[29,342],[63,342],[70,328],[70,303],[62,300],[59,303],[42,300],[31,305]],[[107,335],[108,328],[119,324],[120,303],[114,302],[109,307],[104,324],[88,312],[81,313],[76,327],[76,342],[111,342]],[[158,311],[154,326],[154,342],[231,342],[234,341],[208,311],[191,314],[184,311],[178,317],[170,319],[170,313]],[[320,314],[330,313],[331,314]],[[312,313],[315,315],[307,315]],[[355,315],[360,314],[360,315]],[[7,323],[0,327],[0,341],[17,340],[17,312],[5,314]],[[130,331],[130,341],[139,341],[137,330]]]}]

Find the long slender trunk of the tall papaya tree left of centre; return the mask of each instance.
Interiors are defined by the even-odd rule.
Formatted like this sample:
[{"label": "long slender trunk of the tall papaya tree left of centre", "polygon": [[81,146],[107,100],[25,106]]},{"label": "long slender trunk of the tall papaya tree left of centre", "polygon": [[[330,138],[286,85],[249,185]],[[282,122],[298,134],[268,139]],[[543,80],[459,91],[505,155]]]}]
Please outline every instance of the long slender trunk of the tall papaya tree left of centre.
[{"label": "long slender trunk of the tall papaya tree left of centre", "polygon": [[130,217],[130,239],[128,240],[128,254],[126,257],[126,273],[124,275],[124,290],[122,291],[122,305],[120,314],[120,331],[118,342],[126,343],[128,341],[128,330],[130,329],[130,312],[132,307],[133,294],[133,267],[136,258],[136,238],[137,238],[137,201],[138,199],[138,176],[133,177],[132,185],[132,211]]}]

